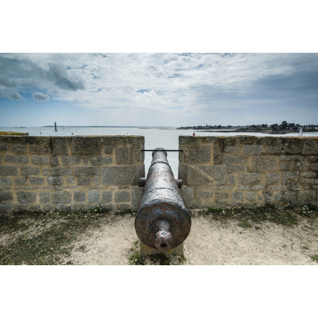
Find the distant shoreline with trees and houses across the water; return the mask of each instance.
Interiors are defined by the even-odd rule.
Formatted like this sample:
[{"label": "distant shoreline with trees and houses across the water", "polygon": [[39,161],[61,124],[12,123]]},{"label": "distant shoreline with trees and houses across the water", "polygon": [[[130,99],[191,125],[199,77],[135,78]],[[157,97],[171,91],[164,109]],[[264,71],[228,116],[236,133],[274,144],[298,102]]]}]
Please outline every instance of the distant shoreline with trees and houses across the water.
[{"label": "distant shoreline with trees and houses across the water", "polygon": [[303,128],[303,131],[318,131],[318,125],[299,125],[295,123],[288,123],[286,121],[281,122],[281,124],[274,124],[274,125],[267,125],[267,124],[260,124],[260,125],[245,125],[245,126],[222,126],[222,125],[205,125],[205,126],[193,126],[193,127],[179,127],[177,129],[196,129],[196,130],[214,130],[214,129],[230,129],[237,132],[244,132],[250,130],[259,130],[259,131],[283,131],[283,132],[297,132]]}]

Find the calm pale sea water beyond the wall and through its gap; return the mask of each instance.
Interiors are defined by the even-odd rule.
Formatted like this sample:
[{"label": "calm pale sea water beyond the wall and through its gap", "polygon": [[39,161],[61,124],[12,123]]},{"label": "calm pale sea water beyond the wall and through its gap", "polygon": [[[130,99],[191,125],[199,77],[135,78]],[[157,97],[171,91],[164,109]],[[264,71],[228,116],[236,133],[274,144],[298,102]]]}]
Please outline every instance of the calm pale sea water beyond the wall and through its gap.
[{"label": "calm pale sea water beyond the wall and through its gap", "polygon": [[[41,127],[42,134],[39,133],[40,127],[25,127],[25,128],[15,128],[15,127],[0,127],[0,132],[28,132],[30,136],[71,136],[73,132],[76,136],[82,135],[136,135],[136,136],[145,136],[145,149],[154,149],[154,148],[165,148],[165,149],[178,149],[179,148],[179,136],[193,134],[193,130],[177,130],[174,128],[170,129],[144,129],[144,128],[125,128],[125,127],[58,127],[58,132],[54,132],[53,127]],[[195,131],[196,136],[236,136],[239,134],[250,135],[250,136],[297,136],[298,132],[293,134],[286,135],[268,135],[262,133],[253,133],[253,132],[198,132]],[[303,136],[318,136],[318,132],[304,133]],[[168,153],[168,160],[174,177],[178,176],[178,163],[179,155],[177,152]],[[151,164],[151,152],[145,153],[145,165],[146,165],[146,174],[148,168]]]}]

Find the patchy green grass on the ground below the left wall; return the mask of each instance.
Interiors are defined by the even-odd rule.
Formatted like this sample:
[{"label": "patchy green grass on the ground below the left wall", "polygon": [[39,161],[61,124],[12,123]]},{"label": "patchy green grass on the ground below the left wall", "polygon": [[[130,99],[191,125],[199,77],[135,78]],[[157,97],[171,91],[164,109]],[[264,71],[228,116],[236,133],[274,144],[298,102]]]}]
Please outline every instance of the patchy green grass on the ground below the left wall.
[{"label": "patchy green grass on the ground below the left wall", "polygon": [[95,210],[0,213],[0,234],[10,235],[0,244],[0,265],[61,264],[81,234],[107,221],[109,210]]}]

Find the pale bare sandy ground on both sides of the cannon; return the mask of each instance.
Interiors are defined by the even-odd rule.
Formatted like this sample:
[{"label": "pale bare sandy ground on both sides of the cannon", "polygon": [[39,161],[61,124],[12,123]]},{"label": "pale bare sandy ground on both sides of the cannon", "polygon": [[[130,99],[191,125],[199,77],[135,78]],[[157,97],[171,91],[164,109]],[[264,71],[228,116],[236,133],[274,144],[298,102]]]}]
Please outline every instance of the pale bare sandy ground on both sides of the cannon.
[{"label": "pale bare sandy ground on both sides of the cannon", "polygon": [[[192,217],[191,233],[184,242],[184,265],[318,265],[318,221],[302,218],[294,227],[269,222],[242,229],[210,217]],[[260,229],[255,229],[260,227]],[[308,229],[308,227],[310,229]],[[128,265],[137,236],[134,217],[116,217],[89,231],[75,243],[65,262],[75,265]]]}]

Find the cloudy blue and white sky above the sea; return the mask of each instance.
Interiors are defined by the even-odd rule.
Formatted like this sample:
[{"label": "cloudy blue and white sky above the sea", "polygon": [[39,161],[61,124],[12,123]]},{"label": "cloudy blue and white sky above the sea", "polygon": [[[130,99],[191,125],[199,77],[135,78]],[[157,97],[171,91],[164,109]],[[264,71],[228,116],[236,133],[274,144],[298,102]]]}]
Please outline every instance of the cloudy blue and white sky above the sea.
[{"label": "cloudy blue and white sky above the sea", "polygon": [[0,53],[0,126],[318,125],[318,53]]}]

